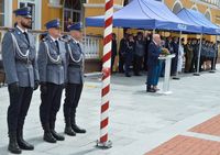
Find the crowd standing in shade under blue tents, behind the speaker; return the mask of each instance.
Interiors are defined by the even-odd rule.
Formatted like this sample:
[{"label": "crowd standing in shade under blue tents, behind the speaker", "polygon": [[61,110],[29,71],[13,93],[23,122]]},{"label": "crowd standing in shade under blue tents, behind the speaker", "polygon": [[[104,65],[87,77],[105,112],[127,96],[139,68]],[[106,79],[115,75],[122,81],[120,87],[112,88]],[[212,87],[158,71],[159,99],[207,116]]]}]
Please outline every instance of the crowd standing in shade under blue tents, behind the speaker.
[{"label": "crowd standing in shade under blue tents, behind the speaker", "polygon": [[[127,77],[131,77],[133,68],[133,75],[140,76],[141,70],[147,70],[148,45],[151,42],[152,34],[144,36],[142,32],[138,32],[136,35],[125,33],[120,41],[118,51],[117,35],[113,33],[111,69],[113,70],[114,59],[119,55],[119,64],[117,65],[119,73],[124,73]],[[199,38],[189,37],[187,41],[180,38],[179,45],[179,37],[162,36],[161,47],[167,48],[170,54],[175,54],[175,58],[172,60],[172,76],[176,76],[177,71],[197,71],[199,46]],[[213,69],[217,58],[217,44],[204,38],[201,43],[199,71]],[[162,63],[162,76],[164,74],[164,63]]]}]

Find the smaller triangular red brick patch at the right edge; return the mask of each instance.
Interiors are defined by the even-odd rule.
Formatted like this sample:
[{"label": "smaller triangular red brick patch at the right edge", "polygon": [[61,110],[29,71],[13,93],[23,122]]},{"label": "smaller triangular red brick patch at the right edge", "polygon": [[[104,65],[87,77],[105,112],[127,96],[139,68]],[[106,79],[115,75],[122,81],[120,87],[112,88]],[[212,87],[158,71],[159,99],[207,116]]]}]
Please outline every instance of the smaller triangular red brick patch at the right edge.
[{"label": "smaller triangular red brick patch at the right edge", "polygon": [[220,114],[190,129],[189,131],[219,136],[220,135]]}]

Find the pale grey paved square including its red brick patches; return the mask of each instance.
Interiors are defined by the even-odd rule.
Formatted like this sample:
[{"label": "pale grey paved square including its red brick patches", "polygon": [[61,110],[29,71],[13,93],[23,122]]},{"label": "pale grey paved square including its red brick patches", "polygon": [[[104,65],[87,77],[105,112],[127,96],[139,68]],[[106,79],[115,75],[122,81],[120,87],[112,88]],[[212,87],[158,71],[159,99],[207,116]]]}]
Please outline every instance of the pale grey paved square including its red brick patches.
[{"label": "pale grey paved square including its red brick patches", "polygon": [[[47,144],[42,140],[43,131],[38,118],[40,91],[37,90],[34,92],[24,128],[25,139],[35,145],[35,150],[22,154],[170,155],[173,153],[194,155],[191,152],[200,151],[194,145],[196,143],[205,145],[202,150],[212,152],[220,145],[220,132],[218,132],[220,128],[218,123],[215,123],[220,122],[218,117],[220,113],[219,78],[220,71],[204,73],[199,77],[184,75],[180,80],[172,80],[173,95],[163,96],[145,92],[145,76],[125,78],[123,75],[114,75],[111,86],[109,125],[109,139],[113,145],[110,150],[96,147],[100,121],[101,82],[99,80],[87,79],[78,108],[78,124],[87,129],[87,134],[75,137],[65,136],[64,142],[56,144]],[[6,122],[8,102],[7,88],[0,88],[0,155],[9,154]],[[206,122],[211,118],[215,120]],[[206,128],[200,128],[199,124],[202,122]],[[207,126],[210,126],[207,123],[215,130],[207,132]],[[63,133],[63,108],[57,115],[56,130]],[[191,148],[191,152],[186,152],[187,146]],[[164,147],[168,147],[170,153]],[[163,152],[160,153],[157,150]],[[217,155],[220,152],[217,150],[215,154],[208,151],[202,155]],[[201,155],[201,153],[197,154]]]}]

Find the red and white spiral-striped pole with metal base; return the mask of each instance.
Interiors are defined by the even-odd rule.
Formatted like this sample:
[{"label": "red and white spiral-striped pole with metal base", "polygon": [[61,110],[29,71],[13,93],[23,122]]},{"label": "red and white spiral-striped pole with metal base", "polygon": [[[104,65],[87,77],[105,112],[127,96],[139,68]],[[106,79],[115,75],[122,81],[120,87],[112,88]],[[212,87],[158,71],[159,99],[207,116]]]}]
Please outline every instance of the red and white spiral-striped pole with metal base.
[{"label": "red and white spiral-striped pole with metal base", "polygon": [[110,148],[111,141],[108,137],[109,125],[109,101],[110,101],[110,77],[111,77],[111,42],[112,42],[113,0],[106,0],[105,33],[103,33],[103,57],[102,57],[102,90],[101,90],[101,122],[100,139],[97,146]]}]

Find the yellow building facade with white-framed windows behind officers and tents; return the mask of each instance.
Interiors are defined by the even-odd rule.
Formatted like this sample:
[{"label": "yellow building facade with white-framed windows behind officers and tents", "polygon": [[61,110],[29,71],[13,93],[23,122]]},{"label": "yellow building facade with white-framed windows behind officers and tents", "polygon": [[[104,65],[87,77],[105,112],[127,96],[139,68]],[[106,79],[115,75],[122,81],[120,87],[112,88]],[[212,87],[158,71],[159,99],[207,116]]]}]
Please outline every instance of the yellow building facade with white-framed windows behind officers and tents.
[{"label": "yellow building facade with white-framed windows behind officers and tents", "polygon": [[[114,11],[122,9],[132,0],[113,0]],[[177,13],[182,8],[198,10],[204,13],[211,22],[220,25],[220,0],[158,0]],[[31,7],[33,25],[32,29],[38,32],[45,31],[44,24],[52,19],[61,19],[62,29],[65,32],[68,24],[81,21],[85,23],[86,16],[101,15],[105,13],[105,0],[0,0],[0,26],[12,27],[15,16],[13,10],[21,7]],[[4,30],[6,31],[6,30]],[[87,27],[85,30],[85,52],[87,62],[96,62],[100,68],[102,55],[102,34],[101,27]],[[123,30],[114,29],[120,40]],[[1,30],[1,38],[3,37]],[[37,40],[36,40],[37,41]],[[36,42],[37,45],[37,42]],[[0,56],[1,58],[1,56]],[[92,65],[89,65],[92,66]]]}]

